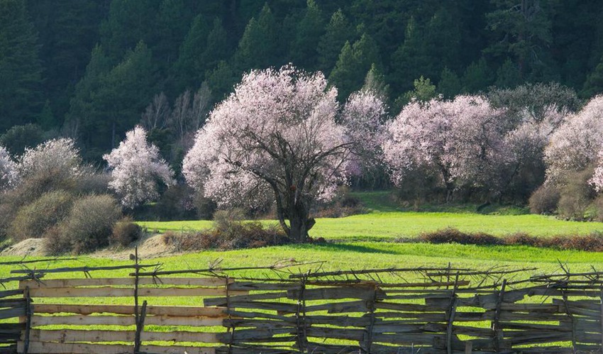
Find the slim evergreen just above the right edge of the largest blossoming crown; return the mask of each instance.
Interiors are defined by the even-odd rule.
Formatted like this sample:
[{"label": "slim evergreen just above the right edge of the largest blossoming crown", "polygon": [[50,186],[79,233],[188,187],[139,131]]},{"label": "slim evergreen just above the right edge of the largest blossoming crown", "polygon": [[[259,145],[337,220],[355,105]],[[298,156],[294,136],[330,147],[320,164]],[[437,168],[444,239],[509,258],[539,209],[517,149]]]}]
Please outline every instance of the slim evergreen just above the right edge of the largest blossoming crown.
[{"label": "slim evergreen just above the right edge of the largest blossoming crown", "polygon": [[343,11],[338,9],[331,16],[331,21],[326,26],[326,32],[319,40],[317,49],[319,55],[319,70],[329,72],[335,66],[341,48],[347,40],[352,38],[353,31],[348,18]]}]

